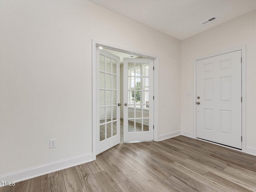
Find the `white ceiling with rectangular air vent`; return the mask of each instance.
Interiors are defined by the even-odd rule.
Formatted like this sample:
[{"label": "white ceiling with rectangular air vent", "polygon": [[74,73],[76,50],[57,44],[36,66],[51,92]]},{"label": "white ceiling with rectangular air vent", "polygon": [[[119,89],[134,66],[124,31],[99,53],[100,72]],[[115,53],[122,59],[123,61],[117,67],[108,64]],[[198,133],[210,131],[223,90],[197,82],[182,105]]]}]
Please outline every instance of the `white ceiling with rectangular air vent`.
[{"label": "white ceiling with rectangular air vent", "polygon": [[[180,40],[256,9],[256,0],[90,0]],[[201,22],[217,17],[206,25]]]}]

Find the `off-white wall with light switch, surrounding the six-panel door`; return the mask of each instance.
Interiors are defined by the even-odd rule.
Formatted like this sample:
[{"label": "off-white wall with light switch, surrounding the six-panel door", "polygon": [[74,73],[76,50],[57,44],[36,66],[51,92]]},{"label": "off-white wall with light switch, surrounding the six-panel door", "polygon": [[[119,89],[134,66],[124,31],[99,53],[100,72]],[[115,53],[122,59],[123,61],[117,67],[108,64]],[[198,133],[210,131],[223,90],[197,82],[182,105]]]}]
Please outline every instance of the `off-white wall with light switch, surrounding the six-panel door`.
[{"label": "off-white wall with light switch, surrounding the six-panel door", "polygon": [[[256,148],[256,11],[182,40],[181,129],[193,133],[193,60],[246,45],[246,146]],[[186,93],[192,93],[191,98]]]}]

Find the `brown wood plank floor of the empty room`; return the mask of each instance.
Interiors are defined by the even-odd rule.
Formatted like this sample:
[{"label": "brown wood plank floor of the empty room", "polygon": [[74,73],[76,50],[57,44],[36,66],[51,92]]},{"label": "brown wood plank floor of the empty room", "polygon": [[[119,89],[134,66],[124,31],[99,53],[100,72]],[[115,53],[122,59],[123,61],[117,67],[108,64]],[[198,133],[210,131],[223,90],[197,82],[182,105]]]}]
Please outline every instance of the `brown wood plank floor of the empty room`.
[{"label": "brown wood plank floor of the empty room", "polygon": [[256,156],[185,136],[119,145],[95,161],[1,192],[256,191]]}]

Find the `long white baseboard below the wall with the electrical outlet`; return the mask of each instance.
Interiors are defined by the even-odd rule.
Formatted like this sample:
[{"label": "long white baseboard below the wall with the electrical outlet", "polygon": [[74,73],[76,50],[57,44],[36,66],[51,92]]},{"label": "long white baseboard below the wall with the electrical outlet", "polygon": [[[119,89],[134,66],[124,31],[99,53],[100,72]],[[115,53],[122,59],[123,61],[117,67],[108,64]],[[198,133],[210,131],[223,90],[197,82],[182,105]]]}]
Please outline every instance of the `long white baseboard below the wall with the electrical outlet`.
[{"label": "long white baseboard below the wall with the electrical outlet", "polygon": [[[37,167],[29,168],[26,170],[1,175],[0,181],[5,181],[5,182],[14,181],[16,183],[16,182],[24,181],[34,177],[42,176],[48,173],[52,173],[55,171],[59,171],[62,169],[70,168],[76,165],[84,164],[92,160],[93,160],[92,153],[85,154],[85,155],[77,156],[74,158],[69,158],[69,159],[65,159],[65,160],[61,160],[61,161],[57,161],[49,164],[44,164],[42,166],[37,166]],[[0,187],[2,187],[2,182],[0,182]]]}]

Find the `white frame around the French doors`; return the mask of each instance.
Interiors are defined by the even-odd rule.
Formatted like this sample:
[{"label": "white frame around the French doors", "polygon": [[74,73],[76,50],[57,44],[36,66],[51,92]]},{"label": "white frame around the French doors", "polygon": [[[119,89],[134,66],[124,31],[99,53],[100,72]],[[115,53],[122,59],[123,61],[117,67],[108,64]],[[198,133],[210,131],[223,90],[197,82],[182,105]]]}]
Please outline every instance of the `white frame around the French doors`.
[{"label": "white frame around the French doors", "polygon": [[97,79],[97,71],[96,71],[96,46],[100,46],[103,48],[108,48],[111,50],[116,50],[119,52],[124,52],[124,53],[129,53],[129,54],[134,54],[137,56],[141,57],[147,57],[150,59],[154,60],[154,71],[153,71],[153,78],[154,78],[154,119],[153,119],[153,124],[154,124],[154,141],[158,141],[158,117],[159,117],[159,108],[158,108],[158,103],[159,103],[159,89],[158,89],[158,82],[159,82],[159,56],[156,56],[154,54],[150,53],[144,53],[141,51],[137,50],[132,50],[129,48],[124,48],[121,46],[116,46],[110,43],[106,42],[101,42],[98,40],[92,39],[92,158],[93,160],[96,160],[96,128],[97,128],[97,123],[96,122],[96,96],[99,94],[99,90],[97,89],[96,82],[98,81]]}]

